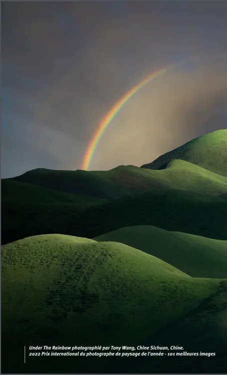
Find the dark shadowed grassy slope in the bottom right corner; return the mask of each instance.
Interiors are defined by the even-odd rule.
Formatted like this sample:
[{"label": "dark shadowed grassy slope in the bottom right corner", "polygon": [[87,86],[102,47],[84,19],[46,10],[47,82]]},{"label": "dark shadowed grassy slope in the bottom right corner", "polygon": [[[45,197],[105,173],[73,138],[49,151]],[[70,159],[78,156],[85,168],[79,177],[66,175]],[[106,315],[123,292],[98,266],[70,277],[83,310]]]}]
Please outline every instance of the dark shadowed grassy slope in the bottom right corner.
[{"label": "dark shadowed grassy slope in the bottom right corner", "polygon": [[[215,356],[162,356],[142,361],[124,363],[133,373],[225,373],[227,347],[227,289],[223,288],[191,310],[182,319],[169,324],[143,342],[145,346],[159,344],[170,347],[172,343],[184,351],[213,353]],[[137,358],[135,358],[137,359]]]}]

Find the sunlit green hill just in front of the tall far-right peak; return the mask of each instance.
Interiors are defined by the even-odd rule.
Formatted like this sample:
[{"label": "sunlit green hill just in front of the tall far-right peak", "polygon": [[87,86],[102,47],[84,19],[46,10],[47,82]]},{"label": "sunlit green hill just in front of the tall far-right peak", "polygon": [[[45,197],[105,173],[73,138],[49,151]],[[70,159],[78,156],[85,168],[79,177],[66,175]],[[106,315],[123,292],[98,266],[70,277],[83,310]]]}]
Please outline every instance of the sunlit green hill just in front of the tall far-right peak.
[{"label": "sunlit green hill just in front of the tall far-right peak", "polygon": [[134,193],[155,189],[181,189],[202,194],[227,193],[226,177],[184,160],[172,160],[168,168],[163,170],[121,165],[109,171],[91,173],[111,180]]}]

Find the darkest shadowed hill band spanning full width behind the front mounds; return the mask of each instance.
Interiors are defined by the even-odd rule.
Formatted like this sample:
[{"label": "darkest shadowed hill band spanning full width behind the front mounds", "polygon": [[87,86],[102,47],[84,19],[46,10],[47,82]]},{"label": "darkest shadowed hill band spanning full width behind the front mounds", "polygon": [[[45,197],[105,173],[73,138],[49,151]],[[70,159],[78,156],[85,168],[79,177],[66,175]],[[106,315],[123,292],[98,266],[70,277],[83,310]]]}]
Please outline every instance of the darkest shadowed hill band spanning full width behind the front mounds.
[{"label": "darkest shadowed hill band spanning full width behind the front mounds", "polygon": [[92,238],[118,228],[152,225],[227,239],[227,200],[183,190],[157,190],[100,204],[2,202],[1,243],[47,233]]}]

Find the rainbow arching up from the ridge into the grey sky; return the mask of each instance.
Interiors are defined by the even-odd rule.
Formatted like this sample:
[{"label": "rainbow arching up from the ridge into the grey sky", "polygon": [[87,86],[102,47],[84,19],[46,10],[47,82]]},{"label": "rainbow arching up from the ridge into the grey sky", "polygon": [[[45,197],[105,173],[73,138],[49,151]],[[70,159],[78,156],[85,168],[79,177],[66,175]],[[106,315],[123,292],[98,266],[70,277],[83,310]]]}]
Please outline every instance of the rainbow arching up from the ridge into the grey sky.
[{"label": "rainbow arching up from the ridge into the grey sky", "polygon": [[182,65],[189,61],[194,61],[195,58],[187,59],[178,63],[174,63],[171,65],[168,65],[165,68],[159,69],[155,71],[154,73],[149,74],[145,79],[141,80],[137,85],[132,87],[131,90],[129,90],[124,96],[122,96],[114,105],[113,107],[107,112],[107,114],[103,117],[101,122],[98,125],[98,128],[96,132],[94,133],[91,141],[88,144],[88,147],[83,155],[82,159],[82,165],[81,169],[87,171],[91,162],[91,159],[93,157],[93,154],[97,148],[98,142],[100,141],[101,136],[104,134],[104,131],[106,130],[107,126],[110,124],[114,116],[117,114],[117,112],[120,110],[120,108],[130,99],[139,89],[141,89],[144,85],[146,85],[148,82],[150,82],[152,79],[157,78],[164,73],[166,73],[168,70],[175,68],[177,65]]}]

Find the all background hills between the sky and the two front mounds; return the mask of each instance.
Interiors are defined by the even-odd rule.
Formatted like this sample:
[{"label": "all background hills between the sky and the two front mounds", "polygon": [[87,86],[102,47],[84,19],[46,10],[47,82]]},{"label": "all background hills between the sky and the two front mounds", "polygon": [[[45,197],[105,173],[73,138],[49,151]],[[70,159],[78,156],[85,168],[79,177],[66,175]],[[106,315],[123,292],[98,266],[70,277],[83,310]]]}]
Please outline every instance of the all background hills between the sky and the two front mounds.
[{"label": "all background hills between the sky and the two front mounds", "polygon": [[2,180],[2,243],[45,233],[92,238],[133,225],[226,240],[225,135],[216,131],[161,156],[164,169],[156,161],[109,171],[36,169]]}]

